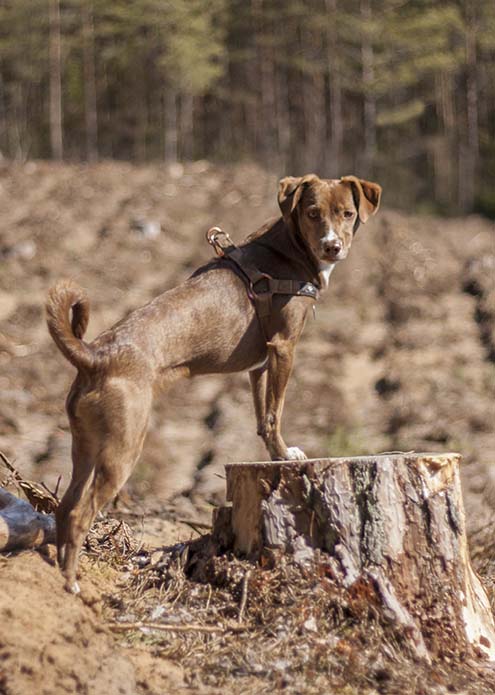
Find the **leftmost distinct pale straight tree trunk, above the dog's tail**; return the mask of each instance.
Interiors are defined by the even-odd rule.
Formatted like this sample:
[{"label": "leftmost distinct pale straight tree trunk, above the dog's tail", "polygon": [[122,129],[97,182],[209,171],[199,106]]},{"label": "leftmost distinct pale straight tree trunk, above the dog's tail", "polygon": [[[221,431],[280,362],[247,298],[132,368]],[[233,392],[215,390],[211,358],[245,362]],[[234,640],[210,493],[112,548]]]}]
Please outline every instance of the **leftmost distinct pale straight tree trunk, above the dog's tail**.
[{"label": "leftmost distinct pale straight tree trunk, above the dog's tail", "polygon": [[60,39],[60,2],[50,0],[50,143],[52,157],[62,159],[62,66]]}]

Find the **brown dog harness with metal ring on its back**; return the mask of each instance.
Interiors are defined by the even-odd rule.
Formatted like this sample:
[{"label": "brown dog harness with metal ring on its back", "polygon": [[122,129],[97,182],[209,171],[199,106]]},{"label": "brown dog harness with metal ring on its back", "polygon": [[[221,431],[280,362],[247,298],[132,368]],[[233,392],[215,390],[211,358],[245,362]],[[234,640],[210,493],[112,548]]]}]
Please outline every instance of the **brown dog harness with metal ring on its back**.
[{"label": "brown dog harness with metal ring on its back", "polygon": [[213,246],[217,256],[230,261],[246,283],[249,299],[252,301],[258,315],[261,327],[268,340],[265,319],[272,313],[272,297],[274,294],[289,294],[299,297],[318,299],[318,289],[312,282],[301,280],[280,280],[268,273],[263,273],[243,258],[242,248],[234,244],[227,232],[220,227],[212,227],[206,232],[207,242]]}]

